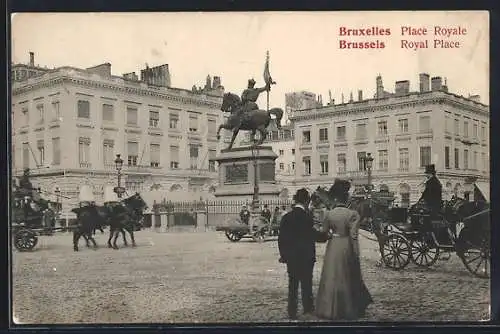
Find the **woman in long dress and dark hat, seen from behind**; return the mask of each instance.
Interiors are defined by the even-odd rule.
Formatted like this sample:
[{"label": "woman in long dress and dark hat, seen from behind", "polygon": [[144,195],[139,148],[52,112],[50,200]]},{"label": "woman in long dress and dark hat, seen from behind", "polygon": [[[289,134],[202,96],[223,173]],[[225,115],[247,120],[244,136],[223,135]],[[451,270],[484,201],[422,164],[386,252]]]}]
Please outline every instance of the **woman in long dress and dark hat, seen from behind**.
[{"label": "woman in long dress and dark hat, seen from behind", "polygon": [[349,188],[348,181],[335,181],[329,191],[335,208],[325,212],[322,224],[323,232],[332,234],[326,246],[316,300],[317,316],[323,319],[358,319],[372,302],[359,262],[360,216],[346,207]]}]

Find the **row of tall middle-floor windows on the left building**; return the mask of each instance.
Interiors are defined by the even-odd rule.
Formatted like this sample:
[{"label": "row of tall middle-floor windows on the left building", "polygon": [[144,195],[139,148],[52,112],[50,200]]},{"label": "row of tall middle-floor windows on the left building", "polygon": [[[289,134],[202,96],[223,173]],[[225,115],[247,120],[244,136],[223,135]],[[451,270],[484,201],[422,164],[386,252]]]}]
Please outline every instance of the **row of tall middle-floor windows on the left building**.
[{"label": "row of tall middle-floor windows on the left building", "polygon": [[[61,163],[61,142],[60,138],[52,138],[52,164],[59,165]],[[28,143],[23,143],[23,168],[29,168],[30,157],[34,152],[31,152],[31,147]],[[199,163],[199,149],[198,145],[189,145],[189,158],[190,158],[190,168],[198,169]],[[114,151],[114,141],[105,139],[103,141],[103,163],[104,166],[113,166],[115,160],[115,151]],[[138,142],[127,142],[127,155],[125,163],[128,166],[138,166],[139,165],[139,156],[142,158],[142,154],[139,152],[139,143]],[[215,163],[214,161],[210,161],[210,159],[214,159],[216,155],[215,149],[210,149],[208,151],[208,159],[209,159],[209,170],[215,171]],[[34,155],[37,165],[44,165],[45,161],[45,144],[44,140],[38,140],[36,146],[36,155]],[[151,167],[160,167],[161,166],[161,148],[160,144],[151,143],[149,144],[149,164]],[[178,169],[179,168],[179,146],[171,145],[170,146],[170,168]],[[91,141],[90,138],[80,137],[78,138],[78,162],[79,166],[82,168],[91,167]]]}]

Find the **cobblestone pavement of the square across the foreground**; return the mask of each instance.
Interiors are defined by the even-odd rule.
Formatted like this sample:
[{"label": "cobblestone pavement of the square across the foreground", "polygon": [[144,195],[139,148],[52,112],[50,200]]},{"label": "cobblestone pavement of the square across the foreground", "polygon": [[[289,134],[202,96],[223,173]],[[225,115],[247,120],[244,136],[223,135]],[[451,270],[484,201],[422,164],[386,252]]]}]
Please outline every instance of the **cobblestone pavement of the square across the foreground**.
[{"label": "cobblestone pavement of the square across the foreground", "polygon": [[[17,323],[272,322],[286,320],[287,277],[276,241],[229,242],[217,232],[136,235],[137,248],[73,252],[72,237],[41,237],[13,253]],[[374,303],[367,321],[488,318],[489,281],[456,255],[432,269],[377,267],[373,242],[360,238],[362,270]],[[83,246],[83,242],[81,242]],[[324,245],[318,245],[317,289]]]}]

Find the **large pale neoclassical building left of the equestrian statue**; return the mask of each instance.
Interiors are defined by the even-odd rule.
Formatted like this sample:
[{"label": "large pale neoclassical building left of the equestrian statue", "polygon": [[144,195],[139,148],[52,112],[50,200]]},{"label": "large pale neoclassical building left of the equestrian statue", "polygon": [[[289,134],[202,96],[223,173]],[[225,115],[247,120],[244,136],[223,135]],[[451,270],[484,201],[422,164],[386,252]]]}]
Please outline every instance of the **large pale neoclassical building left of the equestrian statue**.
[{"label": "large pale neoclassical building left of the equestrian statue", "polygon": [[30,65],[12,67],[13,176],[30,168],[36,186],[61,191],[63,211],[77,205],[82,184],[103,200],[104,188],[117,184],[116,154],[129,192],[213,190],[220,78],[211,90],[185,90],[171,87],[168,65],[146,67],[140,79],[112,75],[109,63]]}]

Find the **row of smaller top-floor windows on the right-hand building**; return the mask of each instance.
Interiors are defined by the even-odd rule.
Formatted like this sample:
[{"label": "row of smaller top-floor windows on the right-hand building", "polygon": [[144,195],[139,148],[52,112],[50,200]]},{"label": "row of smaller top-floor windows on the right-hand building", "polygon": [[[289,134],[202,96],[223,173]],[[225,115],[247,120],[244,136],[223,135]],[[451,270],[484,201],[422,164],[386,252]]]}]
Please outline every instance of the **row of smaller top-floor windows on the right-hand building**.
[{"label": "row of smaller top-floor windows on the right-hand building", "polygon": [[[456,120],[458,122],[458,120]],[[368,132],[367,132],[367,123],[357,123],[355,127],[355,138],[356,139],[366,139],[368,138]],[[464,137],[469,136],[469,130],[468,130],[468,122],[464,121]],[[398,119],[398,129],[399,132],[398,134],[405,134],[409,133],[409,126],[408,126],[408,119],[407,118],[401,118]],[[328,128],[320,128],[319,129],[319,141],[320,142],[327,142],[329,140],[328,136]],[[432,131],[432,126],[431,126],[431,117],[430,116],[420,116],[419,118],[419,132],[421,133],[426,133],[426,132],[431,132]],[[457,130],[455,133],[459,134]],[[379,137],[384,137],[388,136],[388,126],[387,126],[387,121],[382,120],[377,122],[377,135]],[[481,139],[485,140],[486,139],[486,126],[482,125],[481,126]],[[473,124],[473,131],[472,131],[472,137],[473,138],[478,138],[478,124],[474,123]],[[336,140],[343,141],[346,140],[347,138],[347,130],[345,125],[337,126],[336,128]],[[310,143],[311,142],[311,130],[304,130],[302,132],[302,142],[303,143]]]}]

